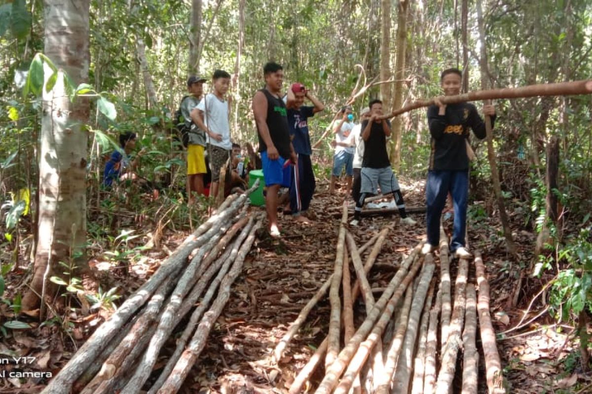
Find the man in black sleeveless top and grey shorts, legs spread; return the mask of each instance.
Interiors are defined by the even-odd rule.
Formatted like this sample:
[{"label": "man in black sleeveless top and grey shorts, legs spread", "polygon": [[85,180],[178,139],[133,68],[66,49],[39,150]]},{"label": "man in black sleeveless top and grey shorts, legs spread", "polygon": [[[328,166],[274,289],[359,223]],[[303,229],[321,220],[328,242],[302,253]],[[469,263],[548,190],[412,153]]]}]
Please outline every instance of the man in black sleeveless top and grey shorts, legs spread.
[{"label": "man in black sleeveless top and grey shorts, legs spread", "polygon": [[378,194],[378,186],[382,194],[390,194],[395,198],[395,203],[401,215],[401,223],[416,224],[416,221],[407,216],[403,194],[395,174],[388,160],[387,136],[391,135],[391,123],[386,120],[378,120],[382,116],[381,100],[370,102],[370,119],[362,122],[362,139],[364,140],[364,155],[362,159],[360,197],[356,202],[353,213],[352,226],[358,226],[361,220],[362,207],[366,197]]}]

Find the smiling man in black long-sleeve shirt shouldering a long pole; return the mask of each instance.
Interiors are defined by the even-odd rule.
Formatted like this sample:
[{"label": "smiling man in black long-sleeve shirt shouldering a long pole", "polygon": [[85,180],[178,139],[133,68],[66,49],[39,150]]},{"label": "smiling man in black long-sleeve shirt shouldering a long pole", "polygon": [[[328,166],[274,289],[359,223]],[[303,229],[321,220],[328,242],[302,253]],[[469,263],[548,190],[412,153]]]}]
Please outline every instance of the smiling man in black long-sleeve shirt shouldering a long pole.
[{"label": "smiling man in black long-sleeve shirt shouldering a long pole", "polygon": [[[442,71],[440,84],[445,96],[455,96],[461,91],[462,72],[458,69]],[[422,252],[432,252],[440,240],[440,216],[451,193],[454,203],[454,227],[450,244],[451,252],[459,258],[470,258],[466,250],[466,205],[469,191],[469,158],[466,154],[469,128],[477,138],[485,138],[485,123],[471,103],[445,105],[439,98],[436,105],[427,109],[427,120],[432,135],[429,171],[426,183],[427,243]],[[496,109],[483,106],[484,115],[493,121]]]}]

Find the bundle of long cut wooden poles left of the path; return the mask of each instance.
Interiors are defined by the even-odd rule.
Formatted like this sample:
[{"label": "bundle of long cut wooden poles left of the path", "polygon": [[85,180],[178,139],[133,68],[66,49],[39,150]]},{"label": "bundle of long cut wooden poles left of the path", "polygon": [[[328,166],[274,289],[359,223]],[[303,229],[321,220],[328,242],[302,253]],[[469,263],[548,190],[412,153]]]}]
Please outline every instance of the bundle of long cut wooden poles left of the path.
[{"label": "bundle of long cut wooden poles left of the path", "polygon": [[226,305],[230,286],[255,239],[262,218],[247,211],[247,197],[257,187],[255,184],[246,193],[227,198],[97,328],[43,393],[140,392],[163,344],[188,316],[188,323],[178,327],[182,334],[173,355],[148,388],[150,393],[177,392],[204,348],[213,321]]}]

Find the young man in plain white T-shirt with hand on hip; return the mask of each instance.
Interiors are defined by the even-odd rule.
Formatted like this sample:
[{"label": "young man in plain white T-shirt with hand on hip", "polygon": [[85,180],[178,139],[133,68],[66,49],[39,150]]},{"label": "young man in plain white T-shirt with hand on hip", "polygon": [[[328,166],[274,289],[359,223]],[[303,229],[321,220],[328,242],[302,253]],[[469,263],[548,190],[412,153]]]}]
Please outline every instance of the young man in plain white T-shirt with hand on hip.
[{"label": "young man in plain white T-shirt with hand on hip", "polygon": [[224,70],[215,70],[212,76],[214,93],[205,95],[191,111],[191,119],[207,134],[208,160],[212,170],[210,196],[217,196],[220,168],[230,157],[229,103],[224,99],[230,86],[230,74]]}]

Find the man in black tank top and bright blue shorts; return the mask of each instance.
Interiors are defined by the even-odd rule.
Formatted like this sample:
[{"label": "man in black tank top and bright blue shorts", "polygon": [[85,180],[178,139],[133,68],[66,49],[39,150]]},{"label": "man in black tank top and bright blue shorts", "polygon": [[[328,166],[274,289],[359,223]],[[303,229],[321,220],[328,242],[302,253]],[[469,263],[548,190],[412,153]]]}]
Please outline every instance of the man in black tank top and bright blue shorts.
[{"label": "man in black tank top and bright blue shorts", "polygon": [[296,162],[296,154],[290,142],[286,105],[282,100],[284,70],[277,63],[263,67],[265,87],[253,97],[253,115],[259,136],[259,152],[263,164],[263,178],[267,187],[265,208],[269,220],[269,233],[279,236],[278,192],[282,185],[289,186],[289,161]]}]

